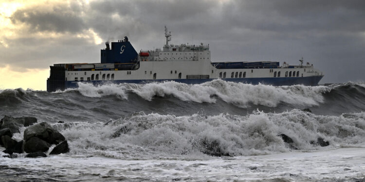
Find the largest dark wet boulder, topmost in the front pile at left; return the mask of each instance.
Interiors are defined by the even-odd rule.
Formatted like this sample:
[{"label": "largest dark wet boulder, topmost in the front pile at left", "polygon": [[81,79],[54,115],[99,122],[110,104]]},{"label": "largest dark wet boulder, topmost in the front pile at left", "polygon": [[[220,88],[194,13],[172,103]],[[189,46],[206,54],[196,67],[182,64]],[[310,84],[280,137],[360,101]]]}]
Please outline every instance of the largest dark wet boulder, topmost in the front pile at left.
[{"label": "largest dark wet boulder, topmost in the front pile at left", "polygon": [[38,137],[50,144],[59,144],[65,140],[65,137],[60,132],[53,129],[46,122],[35,124],[25,129],[24,140],[27,141],[32,137]]}]

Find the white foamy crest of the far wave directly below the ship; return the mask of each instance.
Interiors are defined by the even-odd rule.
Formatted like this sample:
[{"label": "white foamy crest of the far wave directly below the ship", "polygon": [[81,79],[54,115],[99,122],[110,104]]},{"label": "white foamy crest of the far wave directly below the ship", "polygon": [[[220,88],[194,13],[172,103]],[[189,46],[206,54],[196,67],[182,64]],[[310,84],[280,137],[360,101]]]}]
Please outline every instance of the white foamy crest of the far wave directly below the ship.
[{"label": "white foamy crest of the far wave directly below the ship", "polygon": [[247,107],[249,104],[275,107],[280,102],[314,106],[322,103],[322,94],[329,91],[326,86],[271,86],[252,85],[245,83],[225,82],[214,80],[202,84],[185,84],[176,82],[133,84],[122,83],[93,86],[79,83],[79,92],[86,97],[102,97],[118,95],[128,99],[128,93],[135,93],[143,99],[152,100],[153,97],[174,96],[184,101],[215,103],[216,99]]}]

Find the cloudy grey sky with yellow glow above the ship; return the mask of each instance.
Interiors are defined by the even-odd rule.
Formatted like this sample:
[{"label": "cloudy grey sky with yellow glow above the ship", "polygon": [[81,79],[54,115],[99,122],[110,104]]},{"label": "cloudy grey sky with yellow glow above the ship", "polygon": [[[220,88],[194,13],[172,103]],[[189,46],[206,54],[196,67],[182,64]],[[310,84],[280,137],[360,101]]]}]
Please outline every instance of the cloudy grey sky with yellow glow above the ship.
[{"label": "cloudy grey sky with yellow glow above the ship", "polygon": [[320,83],[365,81],[365,0],[9,0],[1,73],[97,63],[105,42],[125,35],[137,51],[162,48],[164,25],[172,44],[209,44],[214,62],[304,57],[324,72]]}]

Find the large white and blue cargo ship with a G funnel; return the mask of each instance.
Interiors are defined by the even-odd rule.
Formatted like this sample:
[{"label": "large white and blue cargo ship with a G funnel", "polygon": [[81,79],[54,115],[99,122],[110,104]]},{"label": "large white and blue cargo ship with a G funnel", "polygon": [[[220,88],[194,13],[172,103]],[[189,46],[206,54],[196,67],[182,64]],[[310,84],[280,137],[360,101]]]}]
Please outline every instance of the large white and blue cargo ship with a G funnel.
[{"label": "large white and blue cargo ship with a G funnel", "polygon": [[280,85],[318,85],[323,73],[303,58],[297,66],[278,61],[212,62],[209,44],[172,45],[171,32],[165,27],[166,44],[163,49],[133,48],[125,36],[123,40],[106,43],[101,50],[100,63],[68,63],[50,66],[47,91],[76,88],[78,83],[150,83],[174,81],[199,84],[214,79],[228,82]]}]

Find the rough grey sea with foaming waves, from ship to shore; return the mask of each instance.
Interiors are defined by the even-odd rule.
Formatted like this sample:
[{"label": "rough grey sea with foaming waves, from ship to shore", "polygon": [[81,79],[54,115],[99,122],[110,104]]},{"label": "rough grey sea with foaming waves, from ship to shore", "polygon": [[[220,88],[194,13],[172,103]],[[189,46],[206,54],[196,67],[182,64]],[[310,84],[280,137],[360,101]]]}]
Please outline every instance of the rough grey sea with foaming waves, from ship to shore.
[{"label": "rough grey sea with foaming waves, from ship to shore", "polygon": [[3,182],[365,182],[365,83],[2,89],[5,115],[51,124],[70,152],[0,152]]}]

